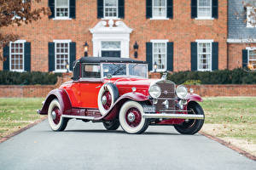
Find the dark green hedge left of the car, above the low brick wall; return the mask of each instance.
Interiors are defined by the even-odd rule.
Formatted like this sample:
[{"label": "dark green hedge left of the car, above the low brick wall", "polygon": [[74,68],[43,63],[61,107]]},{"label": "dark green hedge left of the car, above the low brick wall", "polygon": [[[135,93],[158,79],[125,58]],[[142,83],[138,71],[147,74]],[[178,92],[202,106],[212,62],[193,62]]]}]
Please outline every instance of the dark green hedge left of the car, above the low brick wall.
[{"label": "dark green hedge left of the car, above the low brick wall", "polygon": [[0,71],[1,85],[35,85],[35,84],[55,84],[57,77],[61,74],[53,74],[48,72],[15,72]]}]

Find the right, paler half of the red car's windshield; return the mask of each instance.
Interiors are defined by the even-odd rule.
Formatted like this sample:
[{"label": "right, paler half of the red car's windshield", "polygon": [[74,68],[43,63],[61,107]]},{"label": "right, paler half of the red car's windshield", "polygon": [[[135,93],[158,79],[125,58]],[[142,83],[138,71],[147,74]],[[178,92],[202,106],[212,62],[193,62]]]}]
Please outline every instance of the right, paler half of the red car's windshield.
[{"label": "right, paler half of the red car's windshield", "polygon": [[143,64],[130,64],[129,75],[135,77],[147,78],[147,65]]}]

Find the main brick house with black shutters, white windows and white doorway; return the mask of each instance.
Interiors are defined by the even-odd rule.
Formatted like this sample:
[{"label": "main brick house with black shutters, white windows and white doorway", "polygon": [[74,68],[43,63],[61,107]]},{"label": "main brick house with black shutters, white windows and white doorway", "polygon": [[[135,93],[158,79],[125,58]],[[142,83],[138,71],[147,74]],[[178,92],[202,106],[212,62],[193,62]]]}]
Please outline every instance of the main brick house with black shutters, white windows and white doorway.
[{"label": "main brick house with black shutters, white windows and white doorway", "polygon": [[213,71],[232,62],[228,0],[42,0],[33,8],[43,6],[49,17],[1,29],[20,40],[3,49],[0,70],[64,72],[84,56],[85,42],[89,56],[147,60],[148,71],[154,64],[156,71]]}]

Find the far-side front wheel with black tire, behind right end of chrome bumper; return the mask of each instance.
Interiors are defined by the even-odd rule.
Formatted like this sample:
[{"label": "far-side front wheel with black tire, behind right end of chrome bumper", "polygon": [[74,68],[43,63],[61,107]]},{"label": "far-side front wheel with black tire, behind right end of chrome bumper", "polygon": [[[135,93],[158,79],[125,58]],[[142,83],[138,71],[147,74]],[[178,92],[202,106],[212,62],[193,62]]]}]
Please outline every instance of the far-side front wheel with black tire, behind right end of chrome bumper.
[{"label": "far-side front wheel with black tire, behind right end of chrome bumper", "polygon": [[[205,115],[204,111],[196,102],[191,102],[188,105],[189,114],[196,114],[196,115]],[[204,124],[204,120],[195,120],[195,119],[188,119],[185,120],[182,124],[174,125],[175,129],[178,133],[182,134],[195,134],[201,130],[201,127]]]}]

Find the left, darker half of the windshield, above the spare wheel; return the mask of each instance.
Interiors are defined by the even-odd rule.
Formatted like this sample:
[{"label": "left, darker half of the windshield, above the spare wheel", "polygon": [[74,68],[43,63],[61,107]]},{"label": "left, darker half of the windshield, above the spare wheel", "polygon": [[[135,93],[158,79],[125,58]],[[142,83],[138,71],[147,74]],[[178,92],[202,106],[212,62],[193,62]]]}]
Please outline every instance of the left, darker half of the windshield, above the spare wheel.
[{"label": "left, darker half of the windshield, above the spare wheel", "polygon": [[103,77],[108,74],[112,76],[126,76],[126,65],[125,64],[103,64]]}]

